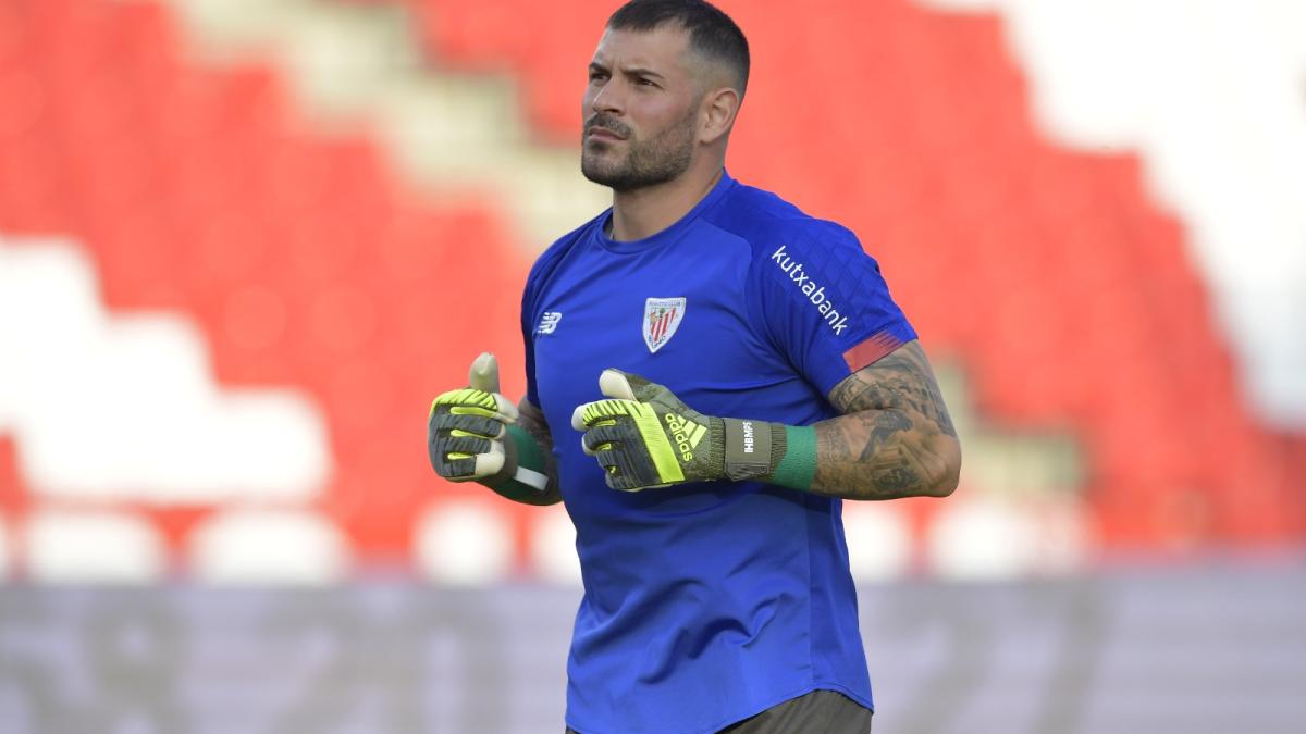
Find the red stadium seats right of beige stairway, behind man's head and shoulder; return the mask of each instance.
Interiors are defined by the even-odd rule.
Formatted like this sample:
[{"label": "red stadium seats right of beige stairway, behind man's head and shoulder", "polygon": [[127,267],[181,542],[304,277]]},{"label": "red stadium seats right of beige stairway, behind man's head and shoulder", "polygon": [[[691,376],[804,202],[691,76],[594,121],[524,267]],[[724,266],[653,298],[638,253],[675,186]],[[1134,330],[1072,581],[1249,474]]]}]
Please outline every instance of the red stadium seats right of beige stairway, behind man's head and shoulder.
[{"label": "red stadium seats right of beige stairway, behind man's head and shoulder", "polygon": [[[547,135],[573,135],[607,4],[410,4],[432,59],[509,67]],[[972,370],[987,414],[1075,430],[1107,545],[1301,534],[1302,479],[1273,478],[1273,440],[1247,411],[1182,227],[1135,158],[1041,138],[996,17],[901,0],[729,9],[756,50],[734,172],[858,231],[929,343]],[[858,165],[832,165],[850,144]]]}]

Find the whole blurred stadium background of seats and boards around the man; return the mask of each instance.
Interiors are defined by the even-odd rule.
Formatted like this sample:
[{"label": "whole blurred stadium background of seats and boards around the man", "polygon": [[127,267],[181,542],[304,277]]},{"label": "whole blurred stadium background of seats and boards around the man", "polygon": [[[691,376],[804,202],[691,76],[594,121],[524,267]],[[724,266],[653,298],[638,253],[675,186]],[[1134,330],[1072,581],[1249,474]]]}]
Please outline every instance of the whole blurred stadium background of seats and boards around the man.
[{"label": "whole blurred stadium background of seats and boards around the man", "polygon": [[[963,432],[845,505],[876,731],[1306,730],[1306,4],[720,4]],[[0,0],[0,733],[562,729],[571,522],[422,440],[615,5]]]}]

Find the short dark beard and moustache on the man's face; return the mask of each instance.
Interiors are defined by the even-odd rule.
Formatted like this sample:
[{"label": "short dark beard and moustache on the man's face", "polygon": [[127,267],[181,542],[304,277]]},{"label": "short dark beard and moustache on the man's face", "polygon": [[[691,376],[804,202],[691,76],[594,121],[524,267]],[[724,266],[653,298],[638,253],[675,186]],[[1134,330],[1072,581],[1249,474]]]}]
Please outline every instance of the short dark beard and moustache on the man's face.
[{"label": "short dark beard and moustache on the man's face", "polygon": [[[610,115],[594,115],[585,121],[585,129],[598,127],[609,129],[626,140],[596,141],[601,145],[597,153],[589,152],[589,142],[582,135],[580,171],[586,179],[611,188],[618,193],[626,193],[650,185],[663,184],[678,178],[690,170],[693,159],[695,137],[695,110],[691,107],[688,115],[677,121],[649,140],[639,140],[628,125],[613,119]],[[626,145],[626,155],[615,159],[603,159],[598,153],[614,145]]]}]

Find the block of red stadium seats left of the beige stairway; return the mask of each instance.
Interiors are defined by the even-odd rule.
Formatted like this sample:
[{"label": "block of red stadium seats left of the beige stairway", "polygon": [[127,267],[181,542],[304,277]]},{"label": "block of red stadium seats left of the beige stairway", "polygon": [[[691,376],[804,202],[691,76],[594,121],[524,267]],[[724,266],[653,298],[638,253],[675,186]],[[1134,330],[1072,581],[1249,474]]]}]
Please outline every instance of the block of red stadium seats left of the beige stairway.
[{"label": "block of red stadium seats left of the beige stairway", "polygon": [[[406,559],[434,483],[421,406],[474,357],[449,345],[520,360],[513,299],[475,295],[516,293],[525,277],[499,217],[417,201],[363,136],[303,135],[266,67],[187,64],[162,5],[0,12],[0,231],[77,236],[108,307],[189,315],[223,384],[302,387],[337,466],[317,509],[347,519],[363,558]],[[468,308],[486,325],[448,317]],[[505,376],[512,392],[520,381]],[[7,513],[21,517],[24,494],[7,486]],[[142,509],[174,541],[204,516]]]}]

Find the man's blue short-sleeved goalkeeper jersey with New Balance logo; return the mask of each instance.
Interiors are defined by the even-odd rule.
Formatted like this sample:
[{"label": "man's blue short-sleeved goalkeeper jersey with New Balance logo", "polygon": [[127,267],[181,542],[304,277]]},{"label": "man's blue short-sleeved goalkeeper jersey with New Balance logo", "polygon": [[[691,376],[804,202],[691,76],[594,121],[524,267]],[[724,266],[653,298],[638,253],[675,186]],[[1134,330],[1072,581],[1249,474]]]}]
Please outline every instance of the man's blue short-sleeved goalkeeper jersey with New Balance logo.
[{"label": "man's blue short-sleeved goalkeeper jersey with New Balance logo", "polygon": [[[814,690],[872,708],[841,500],[759,482],[610,490],[571,417],[616,367],[705,415],[807,426],[837,415],[825,396],[849,350],[916,332],[849,230],[727,174],[650,238],[607,238],[610,217],[545,251],[522,298],[526,397],[552,432],[584,582],[568,726],[717,731]],[[654,351],[648,299],[682,298]]]}]

